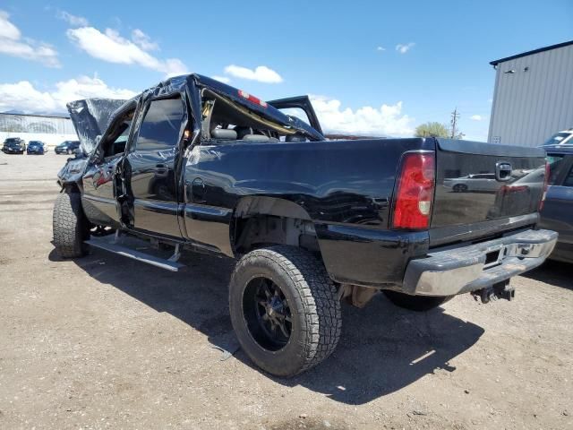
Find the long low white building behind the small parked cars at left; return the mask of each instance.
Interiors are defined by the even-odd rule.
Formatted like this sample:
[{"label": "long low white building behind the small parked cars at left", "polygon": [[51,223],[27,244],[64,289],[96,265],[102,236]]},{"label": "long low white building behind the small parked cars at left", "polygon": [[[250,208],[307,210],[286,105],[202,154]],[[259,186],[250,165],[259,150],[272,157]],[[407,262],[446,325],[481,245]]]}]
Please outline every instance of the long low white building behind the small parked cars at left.
[{"label": "long low white building behind the small parked cars at left", "polygon": [[0,144],[8,137],[21,137],[26,142],[41,141],[48,148],[78,140],[69,117],[0,113]]}]

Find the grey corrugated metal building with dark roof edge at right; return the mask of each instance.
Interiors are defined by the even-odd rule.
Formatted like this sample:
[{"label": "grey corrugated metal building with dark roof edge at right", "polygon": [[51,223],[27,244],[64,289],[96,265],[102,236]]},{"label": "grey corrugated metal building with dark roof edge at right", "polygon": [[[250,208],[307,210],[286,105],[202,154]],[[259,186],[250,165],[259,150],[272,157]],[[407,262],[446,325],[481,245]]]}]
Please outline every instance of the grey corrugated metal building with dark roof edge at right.
[{"label": "grey corrugated metal building with dark roof edge at right", "polygon": [[496,76],[488,142],[539,146],[573,127],[573,40],[490,64]]}]

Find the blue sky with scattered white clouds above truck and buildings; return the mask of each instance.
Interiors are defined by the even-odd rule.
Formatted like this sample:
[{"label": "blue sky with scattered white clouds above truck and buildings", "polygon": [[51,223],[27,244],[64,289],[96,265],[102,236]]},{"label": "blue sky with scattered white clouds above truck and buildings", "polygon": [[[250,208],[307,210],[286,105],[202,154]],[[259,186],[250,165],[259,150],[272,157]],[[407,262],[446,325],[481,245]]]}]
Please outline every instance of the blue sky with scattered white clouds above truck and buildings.
[{"label": "blue sky with scattered white clouds above truck and buildings", "polygon": [[3,0],[0,111],[197,72],[262,99],[312,94],[331,131],[406,136],[458,107],[485,140],[489,62],[573,39],[570,0],[126,3]]}]

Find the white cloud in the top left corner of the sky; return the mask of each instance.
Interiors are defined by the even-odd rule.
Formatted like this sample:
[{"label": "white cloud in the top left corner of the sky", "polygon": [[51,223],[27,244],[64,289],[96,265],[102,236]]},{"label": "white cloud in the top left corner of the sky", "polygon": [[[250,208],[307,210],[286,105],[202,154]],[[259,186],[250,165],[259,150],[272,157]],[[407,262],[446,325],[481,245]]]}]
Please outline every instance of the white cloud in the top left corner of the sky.
[{"label": "white cloud in the top left corner of the sky", "polygon": [[48,67],[59,67],[56,49],[46,43],[21,37],[21,31],[9,21],[10,15],[0,10],[0,54],[38,61]]}]

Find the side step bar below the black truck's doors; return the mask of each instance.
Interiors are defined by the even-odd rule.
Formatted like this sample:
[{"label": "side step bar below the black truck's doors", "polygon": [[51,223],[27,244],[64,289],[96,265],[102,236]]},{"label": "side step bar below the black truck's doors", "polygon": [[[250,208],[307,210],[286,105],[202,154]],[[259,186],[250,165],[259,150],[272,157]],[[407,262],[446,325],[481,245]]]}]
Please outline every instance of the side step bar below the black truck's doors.
[{"label": "side step bar below the black truck's doors", "polygon": [[[91,237],[90,240],[85,241],[86,244],[95,246],[99,249],[104,249],[110,253],[123,255],[124,257],[132,258],[138,262],[146,262],[152,266],[159,267],[161,269],[166,269],[167,271],[179,271],[184,264],[177,262],[179,256],[178,247],[175,248],[175,254],[171,257],[163,257],[160,255],[153,255],[148,253],[142,253],[136,248],[148,249],[151,248],[149,242],[145,242],[141,239],[135,237],[120,236],[102,236],[102,237]],[[158,254],[158,253],[156,253]]]}]

